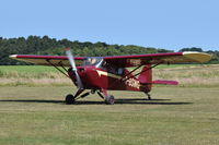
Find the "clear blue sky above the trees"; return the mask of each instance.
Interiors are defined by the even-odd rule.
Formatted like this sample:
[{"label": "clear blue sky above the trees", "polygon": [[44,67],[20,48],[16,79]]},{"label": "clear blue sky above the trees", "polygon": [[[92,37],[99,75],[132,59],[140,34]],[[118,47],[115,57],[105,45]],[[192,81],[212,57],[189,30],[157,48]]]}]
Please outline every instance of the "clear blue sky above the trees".
[{"label": "clear blue sky above the trees", "polygon": [[219,50],[219,0],[0,0],[0,36]]}]

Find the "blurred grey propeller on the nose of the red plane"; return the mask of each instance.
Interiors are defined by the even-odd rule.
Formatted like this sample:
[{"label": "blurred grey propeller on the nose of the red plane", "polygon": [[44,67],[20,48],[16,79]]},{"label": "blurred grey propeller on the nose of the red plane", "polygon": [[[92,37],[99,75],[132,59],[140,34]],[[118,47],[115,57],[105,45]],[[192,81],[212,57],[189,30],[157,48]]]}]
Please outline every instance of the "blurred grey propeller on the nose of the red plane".
[{"label": "blurred grey propeller on the nose of the red plane", "polygon": [[78,71],[77,71],[77,68],[76,68],[76,61],[74,61],[74,59],[73,59],[73,55],[71,53],[71,49],[70,49],[70,48],[66,48],[66,55],[67,55],[68,60],[69,60],[69,62],[70,62],[70,64],[71,64],[71,67],[72,67],[72,71],[73,71],[74,74],[76,74],[78,88],[81,88],[81,89],[82,89],[82,88],[83,88],[83,84],[82,84],[81,78],[80,78],[80,76],[79,76],[79,74],[78,74]]}]

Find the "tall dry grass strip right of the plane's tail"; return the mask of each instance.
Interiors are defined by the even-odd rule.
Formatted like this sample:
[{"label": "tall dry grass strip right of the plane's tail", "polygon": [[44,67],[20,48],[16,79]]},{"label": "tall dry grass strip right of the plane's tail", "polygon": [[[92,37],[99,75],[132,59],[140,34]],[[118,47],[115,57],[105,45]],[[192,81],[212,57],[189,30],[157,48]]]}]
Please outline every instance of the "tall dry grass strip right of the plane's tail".
[{"label": "tall dry grass strip right of the plane's tail", "polygon": [[153,78],[175,80],[180,86],[219,86],[219,65],[192,65],[171,69],[157,69]]}]

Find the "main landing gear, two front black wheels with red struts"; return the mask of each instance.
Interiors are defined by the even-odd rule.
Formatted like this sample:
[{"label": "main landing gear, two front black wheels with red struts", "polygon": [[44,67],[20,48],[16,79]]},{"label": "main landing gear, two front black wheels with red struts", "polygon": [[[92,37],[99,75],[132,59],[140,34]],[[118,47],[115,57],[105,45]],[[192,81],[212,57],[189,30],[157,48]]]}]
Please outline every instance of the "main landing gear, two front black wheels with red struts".
[{"label": "main landing gear, two front black wheels with red struts", "polygon": [[[97,93],[97,95],[99,95],[102,99],[104,99],[104,102],[105,102],[106,105],[114,105],[114,102],[115,102],[114,96],[113,96],[113,95],[108,95],[107,92],[106,92],[105,89],[101,89],[101,90],[91,89],[90,93],[85,93],[85,94],[81,95],[81,94],[83,93],[83,90],[84,90],[84,89],[78,89],[78,92],[76,93],[74,96],[71,95],[71,94],[67,95],[67,96],[66,96],[66,105],[72,105],[72,104],[76,102],[77,99],[79,99],[79,98],[84,98],[84,97],[89,96],[90,93],[91,93],[91,94],[94,94],[95,92]],[[79,95],[81,95],[81,96],[79,96]]]}]

